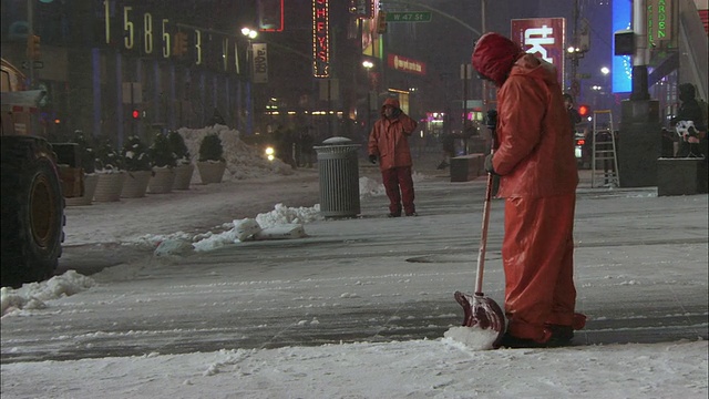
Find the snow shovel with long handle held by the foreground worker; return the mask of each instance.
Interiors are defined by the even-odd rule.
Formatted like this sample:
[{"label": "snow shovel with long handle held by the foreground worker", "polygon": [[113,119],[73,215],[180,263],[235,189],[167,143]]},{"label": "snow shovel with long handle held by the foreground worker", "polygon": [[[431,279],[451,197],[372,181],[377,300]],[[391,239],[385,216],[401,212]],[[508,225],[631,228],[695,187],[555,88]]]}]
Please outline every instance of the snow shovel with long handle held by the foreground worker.
[{"label": "snow shovel with long handle held by the foreground worker", "polygon": [[[495,132],[493,129],[492,136]],[[494,143],[491,145],[491,154],[494,153]],[[492,298],[483,294],[483,270],[485,268],[485,249],[487,247],[487,225],[490,223],[490,203],[492,200],[492,173],[487,173],[487,187],[485,188],[485,203],[483,205],[483,226],[477,252],[477,276],[475,294],[467,295],[455,291],[455,300],[463,307],[463,327],[477,326],[481,329],[490,329],[497,332],[493,347],[497,347],[505,332],[505,315]]]}]

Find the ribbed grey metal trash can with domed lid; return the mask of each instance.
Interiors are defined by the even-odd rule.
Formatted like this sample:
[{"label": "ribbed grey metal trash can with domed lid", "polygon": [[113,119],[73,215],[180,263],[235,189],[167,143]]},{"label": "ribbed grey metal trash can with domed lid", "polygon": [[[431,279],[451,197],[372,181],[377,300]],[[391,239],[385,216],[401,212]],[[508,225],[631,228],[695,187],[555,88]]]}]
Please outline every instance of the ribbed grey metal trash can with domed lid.
[{"label": "ribbed grey metal trash can with domed lid", "polygon": [[351,217],[360,214],[359,144],[347,137],[330,137],[314,146],[318,153],[320,214],[325,217]]}]

